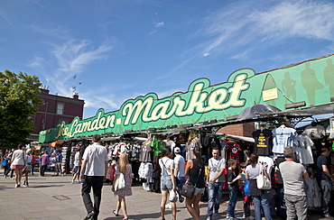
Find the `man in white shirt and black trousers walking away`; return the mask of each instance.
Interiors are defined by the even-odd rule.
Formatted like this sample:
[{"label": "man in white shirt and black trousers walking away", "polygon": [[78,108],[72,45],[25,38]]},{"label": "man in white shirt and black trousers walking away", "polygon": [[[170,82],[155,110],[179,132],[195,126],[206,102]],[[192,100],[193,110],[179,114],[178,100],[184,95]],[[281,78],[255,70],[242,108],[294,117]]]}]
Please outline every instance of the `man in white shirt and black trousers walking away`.
[{"label": "man in white shirt and black trousers walking away", "polygon": [[[81,195],[88,212],[84,220],[97,220],[103,182],[107,179],[107,149],[100,144],[100,135],[94,134],[92,141],[84,152],[80,171],[80,179],[83,181]],[[94,193],[94,206],[90,198],[91,188]]]}]

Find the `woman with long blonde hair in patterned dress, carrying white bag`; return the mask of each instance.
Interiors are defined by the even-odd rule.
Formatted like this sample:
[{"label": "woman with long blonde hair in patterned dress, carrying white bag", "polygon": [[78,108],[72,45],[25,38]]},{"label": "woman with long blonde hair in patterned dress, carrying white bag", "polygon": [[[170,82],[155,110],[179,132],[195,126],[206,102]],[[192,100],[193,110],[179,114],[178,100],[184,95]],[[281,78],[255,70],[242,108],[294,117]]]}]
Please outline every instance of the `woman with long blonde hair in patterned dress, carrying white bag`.
[{"label": "woman with long blonde hair in patterned dress, carrying white bag", "polygon": [[[134,178],[134,173],[132,172],[131,164],[129,164],[128,155],[125,152],[122,152],[119,156],[119,161],[116,164],[115,178],[113,182],[112,190],[115,196],[118,196],[116,210],[113,211],[114,215],[118,216],[119,210],[122,208],[124,215],[123,220],[127,220],[126,204],[125,197],[132,196],[132,179]],[[118,180],[116,180],[118,179]],[[120,184],[121,180],[125,180],[124,186]]]}]

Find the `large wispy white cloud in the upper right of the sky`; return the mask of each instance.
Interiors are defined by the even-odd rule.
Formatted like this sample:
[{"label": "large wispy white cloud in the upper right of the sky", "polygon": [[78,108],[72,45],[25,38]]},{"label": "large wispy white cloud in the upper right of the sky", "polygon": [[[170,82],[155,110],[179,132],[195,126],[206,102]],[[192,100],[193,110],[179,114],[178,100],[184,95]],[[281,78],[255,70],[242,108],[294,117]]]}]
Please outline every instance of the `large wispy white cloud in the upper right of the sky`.
[{"label": "large wispy white cloud in the upper right of the sky", "polygon": [[[249,13],[253,12],[253,13]],[[248,53],[264,43],[288,38],[334,41],[334,3],[311,0],[240,1],[211,13],[194,35],[205,42],[191,49],[197,58],[207,54],[232,54],[247,47]],[[244,52],[246,55],[246,52]]]}]

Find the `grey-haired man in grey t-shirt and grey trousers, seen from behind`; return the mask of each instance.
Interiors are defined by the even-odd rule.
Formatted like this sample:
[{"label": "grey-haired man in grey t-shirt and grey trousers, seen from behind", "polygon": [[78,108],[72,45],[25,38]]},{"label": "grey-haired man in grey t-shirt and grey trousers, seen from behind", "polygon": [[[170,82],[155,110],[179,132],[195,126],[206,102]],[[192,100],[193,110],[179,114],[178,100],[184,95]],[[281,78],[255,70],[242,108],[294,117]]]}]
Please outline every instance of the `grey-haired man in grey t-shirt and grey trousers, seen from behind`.
[{"label": "grey-haired man in grey t-shirt and grey trousers, seen from behind", "polygon": [[301,163],[296,163],[296,153],[294,148],[287,146],[284,148],[285,161],[280,163],[279,169],[283,178],[284,200],[286,206],[286,215],[288,220],[307,219],[307,198],[304,189],[304,179],[309,179]]}]

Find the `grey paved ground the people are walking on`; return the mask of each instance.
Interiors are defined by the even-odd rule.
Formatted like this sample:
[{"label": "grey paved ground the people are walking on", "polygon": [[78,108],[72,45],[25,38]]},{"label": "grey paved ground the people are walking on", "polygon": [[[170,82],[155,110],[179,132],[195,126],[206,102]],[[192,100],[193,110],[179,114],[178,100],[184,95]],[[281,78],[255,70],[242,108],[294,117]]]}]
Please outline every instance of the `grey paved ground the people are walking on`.
[{"label": "grey paved ground the people are walking on", "polygon": [[[3,174],[4,170],[0,170]],[[14,188],[13,179],[0,178],[0,220],[77,220],[84,219],[87,215],[80,194],[81,185],[71,184],[70,174],[65,176],[53,176],[53,172],[46,171],[45,177],[40,177],[38,172],[29,176],[28,188]],[[149,192],[142,186],[135,186],[133,196],[125,197],[129,219],[160,219],[161,195]],[[219,215],[214,215],[213,220],[226,219],[228,204],[227,194],[223,195]],[[116,209],[117,197],[111,191],[111,185],[105,184],[102,188],[102,202],[98,219],[116,220],[122,219],[122,211],[119,216],[112,212]],[[200,219],[206,219],[208,204],[200,202]],[[242,219],[243,202],[237,201],[236,216]],[[252,213],[254,206],[251,206]],[[254,213],[253,213],[254,215]],[[166,209],[166,219],[172,219],[172,210]],[[177,203],[177,219],[192,219],[184,202]],[[263,217],[264,219],[264,217]],[[284,219],[284,218],[274,218]],[[309,220],[321,219],[317,212],[310,212]]]}]

